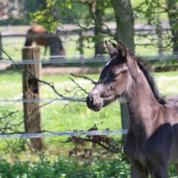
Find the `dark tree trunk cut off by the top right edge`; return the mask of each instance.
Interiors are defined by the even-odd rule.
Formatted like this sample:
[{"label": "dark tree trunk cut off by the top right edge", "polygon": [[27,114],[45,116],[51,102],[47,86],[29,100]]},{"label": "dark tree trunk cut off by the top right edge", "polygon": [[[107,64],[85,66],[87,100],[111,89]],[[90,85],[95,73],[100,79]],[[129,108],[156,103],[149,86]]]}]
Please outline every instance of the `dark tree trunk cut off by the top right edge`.
[{"label": "dark tree trunk cut off by the top right edge", "polygon": [[177,0],[166,0],[167,1],[167,13],[169,17],[169,23],[172,34],[173,52],[178,52],[178,2]]}]

